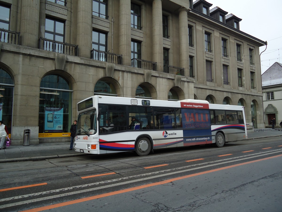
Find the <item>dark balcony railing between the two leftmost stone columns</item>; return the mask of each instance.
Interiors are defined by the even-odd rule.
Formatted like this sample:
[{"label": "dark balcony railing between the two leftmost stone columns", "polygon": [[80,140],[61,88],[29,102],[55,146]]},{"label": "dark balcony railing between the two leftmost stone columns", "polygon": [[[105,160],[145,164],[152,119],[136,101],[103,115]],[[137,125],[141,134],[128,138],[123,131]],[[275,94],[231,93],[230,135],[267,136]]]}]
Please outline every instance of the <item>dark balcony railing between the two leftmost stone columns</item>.
[{"label": "dark balcony railing between the two leftmost stone columns", "polygon": [[38,46],[39,49],[77,56],[78,45],[72,45],[40,37]]}]

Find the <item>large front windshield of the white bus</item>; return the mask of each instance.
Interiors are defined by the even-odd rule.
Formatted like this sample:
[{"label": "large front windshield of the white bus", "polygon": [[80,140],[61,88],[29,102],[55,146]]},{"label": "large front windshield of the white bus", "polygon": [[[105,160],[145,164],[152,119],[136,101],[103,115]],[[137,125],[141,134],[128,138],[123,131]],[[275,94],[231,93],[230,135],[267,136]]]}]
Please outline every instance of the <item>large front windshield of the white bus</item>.
[{"label": "large front windshield of the white bus", "polygon": [[96,109],[78,114],[76,135],[92,135],[97,132]]}]

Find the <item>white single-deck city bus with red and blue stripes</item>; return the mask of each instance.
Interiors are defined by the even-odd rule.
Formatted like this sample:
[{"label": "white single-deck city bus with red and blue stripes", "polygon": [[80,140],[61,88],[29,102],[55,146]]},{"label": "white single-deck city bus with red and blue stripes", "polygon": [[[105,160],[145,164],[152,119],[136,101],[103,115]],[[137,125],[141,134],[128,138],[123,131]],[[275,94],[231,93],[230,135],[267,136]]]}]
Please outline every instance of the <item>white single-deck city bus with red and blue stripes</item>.
[{"label": "white single-deck city bus with red and blue stripes", "polygon": [[76,152],[104,154],[213,144],[247,138],[243,106],[95,95],[77,104]]}]

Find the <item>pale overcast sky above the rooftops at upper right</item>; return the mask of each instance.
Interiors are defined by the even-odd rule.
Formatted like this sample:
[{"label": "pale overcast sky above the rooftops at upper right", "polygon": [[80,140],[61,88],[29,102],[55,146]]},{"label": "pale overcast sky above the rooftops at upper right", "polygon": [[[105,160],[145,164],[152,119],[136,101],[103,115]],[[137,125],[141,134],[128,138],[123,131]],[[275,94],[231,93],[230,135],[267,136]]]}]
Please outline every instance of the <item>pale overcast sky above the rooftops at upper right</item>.
[{"label": "pale overcast sky above the rooftops at upper right", "polygon": [[[195,1],[195,0],[193,0]],[[282,63],[282,0],[206,0],[222,10],[241,18],[240,30],[260,40],[267,41],[259,48],[261,73],[275,62]]]}]

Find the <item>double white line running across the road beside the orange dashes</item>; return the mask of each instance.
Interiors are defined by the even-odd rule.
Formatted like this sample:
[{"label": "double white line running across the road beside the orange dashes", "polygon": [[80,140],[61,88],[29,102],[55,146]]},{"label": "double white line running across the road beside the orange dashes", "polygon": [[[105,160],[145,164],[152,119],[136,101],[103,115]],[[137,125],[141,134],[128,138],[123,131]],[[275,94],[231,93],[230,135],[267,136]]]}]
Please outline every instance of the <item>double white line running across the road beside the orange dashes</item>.
[{"label": "double white line running across the road beside the orange dashes", "polygon": [[[27,194],[27,195],[21,195],[21,196],[15,196],[15,197],[4,198],[4,199],[1,199],[0,202],[11,201],[11,200],[15,200],[15,199],[27,198],[27,197],[31,197],[31,196],[49,194],[49,193],[60,192],[60,191],[67,191],[67,190],[71,190],[71,189],[75,189],[75,188],[82,188],[82,187],[87,187],[87,186],[91,186],[91,185],[98,185],[98,184],[103,184],[103,183],[109,183],[109,182],[119,181],[119,180],[122,180],[122,179],[129,179],[129,178],[136,178],[136,177],[146,176],[146,175],[151,175],[151,174],[158,174],[158,173],[161,173],[161,172],[167,172],[167,171],[172,171],[172,170],[178,170],[178,169],[188,168],[188,167],[192,167],[192,166],[205,165],[205,164],[208,164],[208,163],[215,163],[215,164],[211,164],[211,165],[200,166],[200,167],[195,167],[195,168],[180,170],[180,171],[176,171],[176,172],[170,172],[170,173],[166,173],[166,174],[160,174],[160,175],[156,175],[156,176],[150,176],[150,177],[147,177],[147,178],[135,179],[135,180],[125,181],[125,182],[120,182],[120,183],[115,183],[115,184],[111,184],[111,185],[104,185],[104,186],[95,187],[95,188],[91,188],[91,189],[84,189],[84,190],[80,190],[80,191],[73,191],[73,192],[68,192],[68,193],[64,193],[64,194],[57,194],[57,195],[46,196],[46,197],[42,197],[42,198],[36,198],[36,199],[32,199],[32,200],[26,200],[26,201],[21,201],[21,202],[10,203],[10,204],[6,204],[6,205],[0,205],[0,209],[1,209],[1,208],[6,208],[6,207],[17,206],[17,205],[29,204],[29,203],[32,203],[32,202],[38,202],[38,201],[43,201],[43,200],[49,200],[49,199],[58,198],[58,197],[63,197],[63,196],[69,196],[69,195],[73,195],[73,194],[79,194],[79,193],[83,193],[83,192],[90,192],[90,191],[95,191],[95,190],[99,190],[99,189],[105,189],[105,188],[114,187],[114,186],[119,186],[119,185],[125,185],[125,184],[130,184],[130,183],[145,181],[145,180],[154,179],[154,178],[159,178],[159,177],[163,177],[163,176],[169,176],[169,175],[173,175],[173,174],[179,174],[179,173],[183,173],[183,172],[189,172],[189,171],[192,171],[192,170],[197,170],[197,169],[202,169],[202,168],[208,168],[208,167],[211,167],[211,166],[217,166],[217,165],[222,165],[222,164],[226,164],[226,163],[231,163],[231,162],[236,162],[236,161],[242,161],[242,160],[246,160],[246,159],[252,159],[252,158],[255,158],[255,157],[270,155],[270,154],[279,153],[279,152],[282,152],[282,150],[279,150],[279,151],[277,151],[277,150],[271,150],[271,151],[264,152],[264,154],[262,154],[262,153],[254,153],[254,154],[251,154],[251,155],[253,155],[253,156],[251,156],[251,155],[244,155],[244,156],[233,157],[233,158],[229,158],[229,159],[222,159],[222,160],[217,160],[217,161],[205,162],[205,163],[201,163],[201,164],[195,164],[195,165],[183,166],[183,167],[178,167],[178,168],[172,168],[172,169],[162,170],[162,171],[158,171],[158,172],[151,172],[151,173],[147,173],[147,174],[140,174],[140,175],[128,176],[128,177],[124,177],[124,178],[118,178],[118,179],[112,179],[112,180],[101,181],[101,182],[96,182],[96,183],[89,183],[89,184],[84,184],[84,185],[72,186],[72,187],[67,187],[67,188],[62,188],[62,189],[51,190],[51,191],[43,191],[43,192],[38,192],[38,193],[33,193],[33,194]],[[258,154],[259,154],[259,155],[258,155]],[[251,157],[248,157],[248,156],[251,156]],[[242,158],[242,157],[245,157],[245,158]],[[227,161],[227,160],[230,160],[230,159],[234,159],[234,160],[232,160],[232,161]],[[224,162],[221,162],[221,161],[224,161]],[[221,162],[221,163],[216,163],[216,162]]]}]

